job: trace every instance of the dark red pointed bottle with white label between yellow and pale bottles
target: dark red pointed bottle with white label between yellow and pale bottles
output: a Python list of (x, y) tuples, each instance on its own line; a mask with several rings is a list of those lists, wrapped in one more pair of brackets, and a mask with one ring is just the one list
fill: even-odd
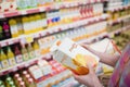
[(23, 57), (22, 57), (22, 52), (20, 51), (17, 46), (15, 46), (15, 48), (14, 48), (14, 54), (15, 54), (16, 62), (22, 63)]

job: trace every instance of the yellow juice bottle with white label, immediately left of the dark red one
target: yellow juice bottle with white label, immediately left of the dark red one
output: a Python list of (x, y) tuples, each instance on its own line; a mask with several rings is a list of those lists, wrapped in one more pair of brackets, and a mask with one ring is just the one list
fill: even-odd
[(8, 55), (10, 65), (16, 64), (15, 58), (14, 58), (14, 53), (12, 52), (12, 50), (11, 50), (10, 47), (8, 47), (8, 53), (6, 53), (6, 55)]

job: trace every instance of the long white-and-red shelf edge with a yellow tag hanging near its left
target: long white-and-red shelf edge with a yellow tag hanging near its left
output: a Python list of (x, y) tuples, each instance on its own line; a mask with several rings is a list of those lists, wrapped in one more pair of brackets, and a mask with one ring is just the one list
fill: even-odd
[(35, 34), (30, 34), (30, 35), (22, 35), (22, 36), (16, 37), (16, 38), (5, 39), (5, 40), (0, 41), (0, 46), (4, 47), (8, 44), (10, 44), (10, 45), (11, 44), (15, 44), (15, 42), (20, 41), (23, 38), (26, 39), (27, 37), (30, 37), (31, 39), (34, 39), (34, 37), (42, 37), (42, 36), (47, 36), (47, 35), (50, 35), (50, 34), (58, 33), (61, 30), (66, 30), (66, 29), (69, 29), (69, 28), (75, 28), (75, 27), (79, 27), (79, 26), (82, 26), (82, 25), (96, 23), (96, 22), (100, 22), (102, 20), (106, 20), (107, 16), (108, 16), (107, 14), (102, 14), (100, 16), (84, 18), (84, 20), (81, 20), (81, 21), (78, 21), (78, 22), (74, 22), (74, 23), (70, 23), (70, 24), (65, 24), (65, 25), (58, 25), (58, 26), (55, 26), (55, 27), (50, 27), (50, 28), (44, 29), (44, 30), (39, 32), (39, 33), (35, 33)]

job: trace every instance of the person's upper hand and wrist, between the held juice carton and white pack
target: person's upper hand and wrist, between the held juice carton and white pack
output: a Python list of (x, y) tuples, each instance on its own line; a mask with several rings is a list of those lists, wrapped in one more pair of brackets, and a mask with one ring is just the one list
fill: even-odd
[(100, 58), (101, 62), (108, 64), (110, 66), (115, 66), (120, 57), (120, 55), (109, 55), (107, 53), (98, 52), (98, 51), (91, 49), (90, 47), (88, 47), (87, 45), (82, 45), (82, 47), (84, 47), (86, 49), (88, 49), (89, 51), (91, 51), (92, 53), (98, 55)]

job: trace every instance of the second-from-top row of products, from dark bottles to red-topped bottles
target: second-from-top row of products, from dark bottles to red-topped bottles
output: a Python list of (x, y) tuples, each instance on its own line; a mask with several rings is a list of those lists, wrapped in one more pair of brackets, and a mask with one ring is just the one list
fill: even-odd
[[(99, 7), (96, 9), (96, 7)], [(90, 4), (70, 9), (61, 9), (47, 13), (24, 15), (0, 20), (0, 40), (29, 35), (54, 26), (62, 26), (82, 18), (101, 15), (103, 4)], [(60, 28), (60, 27), (58, 27)]]

